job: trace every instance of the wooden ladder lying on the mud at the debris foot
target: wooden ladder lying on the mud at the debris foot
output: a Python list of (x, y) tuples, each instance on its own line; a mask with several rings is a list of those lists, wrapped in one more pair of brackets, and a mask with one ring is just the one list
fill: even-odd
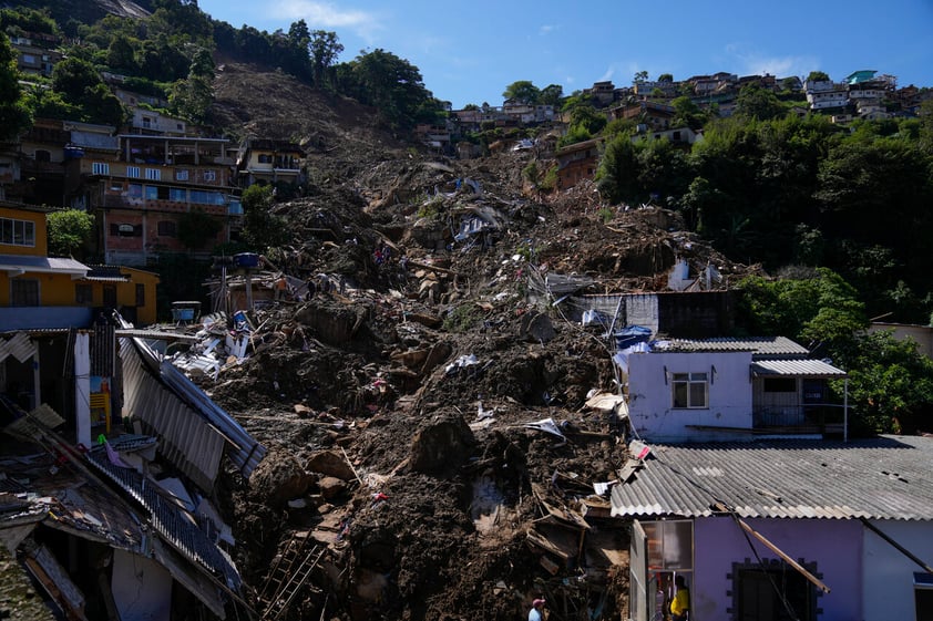
[(309, 546), (309, 541), (312, 541), (310, 534), (294, 536), (273, 565), (259, 593), (259, 602), (265, 608), (263, 621), (275, 621), (288, 610), (327, 551), (317, 544)]

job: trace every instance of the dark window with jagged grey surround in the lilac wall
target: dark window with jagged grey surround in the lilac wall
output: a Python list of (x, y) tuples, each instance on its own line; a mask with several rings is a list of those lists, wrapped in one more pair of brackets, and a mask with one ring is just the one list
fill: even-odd
[[(765, 562), (763, 566), (734, 563), (732, 599), (738, 613), (735, 618), (816, 621), (817, 588), (783, 561)], [(803, 563), (803, 567), (817, 573), (816, 563)]]

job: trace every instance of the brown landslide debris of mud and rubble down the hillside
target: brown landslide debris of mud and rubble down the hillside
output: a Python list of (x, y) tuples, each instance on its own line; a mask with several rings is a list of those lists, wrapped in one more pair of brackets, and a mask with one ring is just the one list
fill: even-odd
[[(536, 196), (522, 169), (547, 154), (424, 153), (243, 65), (215, 87), (218, 122), (308, 152), (303, 196), (275, 207), (291, 244), (259, 277), (291, 291), (257, 294), (245, 355), (193, 373), (269, 448), (219, 499), (246, 600), (267, 619), (514, 620), (537, 597), (551, 619), (624, 617), (627, 525), (594, 484), (618, 477), (627, 438), (612, 403), (587, 405), (617, 392), (606, 327), (554, 303), (558, 284), (662, 291), (681, 259), (726, 281), (751, 269), (592, 185)], [(308, 299), (316, 275), (334, 290)]]

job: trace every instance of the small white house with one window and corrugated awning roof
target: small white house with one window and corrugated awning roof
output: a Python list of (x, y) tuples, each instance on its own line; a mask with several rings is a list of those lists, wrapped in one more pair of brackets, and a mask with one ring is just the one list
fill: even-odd
[[(623, 352), (629, 423), (648, 442), (843, 434), (827, 380), (845, 372), (783, 337), (655, 341)], [(617, 356), (617, 360), (619, 356)]]

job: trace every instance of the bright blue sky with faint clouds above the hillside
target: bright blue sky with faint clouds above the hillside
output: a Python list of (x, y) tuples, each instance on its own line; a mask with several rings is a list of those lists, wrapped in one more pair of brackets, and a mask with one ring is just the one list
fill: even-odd
[(727, 71), (779, 77), (861, 69), (933, 86), (933, 0), (198, 0), (234, 28), (288, 31), (304, 19), (337, 33), (339, 62), (381, 48), (421, 71), (454, 108), (502, 104), (517, 80), (564, 94), (639, 71), (675, 80)]

